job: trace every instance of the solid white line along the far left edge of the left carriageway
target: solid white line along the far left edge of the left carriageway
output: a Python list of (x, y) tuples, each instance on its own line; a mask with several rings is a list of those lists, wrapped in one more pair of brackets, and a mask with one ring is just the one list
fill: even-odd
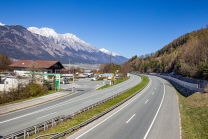
[[(132, 80), (134, 79), (135, 77), (133, 76)], [(125, 84), (128, 84), (131, 80), (127, 80), (127, 82), (124, 82), (122, 85), (119, 84), (120, 86), (125, 86)], [(46, 108), (43, 108), (43, 109), (40, 109), (40, 110), (37, 110), (37, 111), (34, 111), (34, 112), (31, 112), (31, 113), (27, 113), (27, 114), (24, 114), (24, 115), (21, 115), (21, 116), (18, 116), (18, 117), (14, 117), (14, 118), (11, 118), (11, 119), (8, 119), (8, 120), (5, 120), (5, 121), (1, 121), (0, 124), (2, 123), (6, 123), (6, 122), (9, 122), (9, 121), (13, 121), (13, 120), (16, 120), (16, 119), (19, 119), (19, 118), (23, 118), (23, 117), (26, 117), (26, 116), (29, 116), (29, 115), (32, 115), (32, 114), (36, 114), (36, 113), (40, 113), (40, 112), (43, 112), (43, 111), (46, 111), (46, 110), (50, 110), (50, 109), (53, 109), (53, 108), (56, 108), (56, 107), (60, 107), (60, 106), (63, 106), (63, 105), (67, 105), (67, 104), (70, 104), (70, 103), (73, 103), (73, 102), (77, 102), (77, 101), (80, 101), (80, 100), (83, 100), (83, 99), (86, 99), (86, 98), (90, 98), (90, 97), (93, 97), (93, 96), (97, 96), (99, 94), (102, 94), (102, 93), (105, 93), (107, 91), (110, 91), (110, 90), (113, 90), (114, 88), (107, 88), (106, 90), (104, 91), (100, 91), (100, 93), (97, 93), (97, 94), (93, 94), (91, 96), (87, 96), (87, 97), (83, 97), (82, 95), (81, 96), (78, 96), (76, 98), (73, 98), (71, 100), (67, 100), (67, 101), (64, 101), (62, 103), (59, 103), (59, 104), (56, 104), (56, 105), (53, 105), (53, 106), (50, 106), (50, 107), (46, 107)], [(85, 94), (84, 94), (85, 95)], [(80, 97), (83, 97), (83, 98), (80, 98)], [(76, 100), (77, 99), (77, 100)]]

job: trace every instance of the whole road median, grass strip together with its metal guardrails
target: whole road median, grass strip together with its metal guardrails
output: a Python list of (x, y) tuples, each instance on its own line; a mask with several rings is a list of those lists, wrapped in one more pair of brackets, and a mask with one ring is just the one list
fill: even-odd
[[(106, 113), (110, 112), (111, 110), (115, 109), (119, 105), (125, 103), (127, 100), (138, 94), (149, 82), (148, 77), (141, 77), (141, 83), (136, 85), (132, 89), (111, 96), (108, 99), (97, 102), (96, 104), (90, 105), (74, 113), (73, 115), (68, 115), (63, 118), (62, 122), (57, 121), (56, 123), (59, 123), (59, 125), (57, 125), (56, 127), (43, 131), (40, 134), (33, 136), (33, 138), (61, 138), (66, 134), (73, 133), (77, 129), (98, 119), (99, 117), (105, 115)], [(50, 134), (53, 135), (50, 136)]]

